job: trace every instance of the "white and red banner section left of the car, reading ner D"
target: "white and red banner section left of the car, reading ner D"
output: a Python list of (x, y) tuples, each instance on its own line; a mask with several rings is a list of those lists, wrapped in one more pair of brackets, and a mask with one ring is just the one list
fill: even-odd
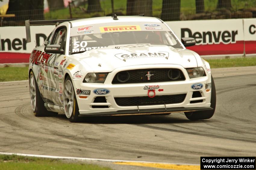
[(31, 26), (31, 43), (27, 43), (25, 26), (0, 27), (0, 63), (28, 63), (33, 48), (42, 45), (54, 28)]

